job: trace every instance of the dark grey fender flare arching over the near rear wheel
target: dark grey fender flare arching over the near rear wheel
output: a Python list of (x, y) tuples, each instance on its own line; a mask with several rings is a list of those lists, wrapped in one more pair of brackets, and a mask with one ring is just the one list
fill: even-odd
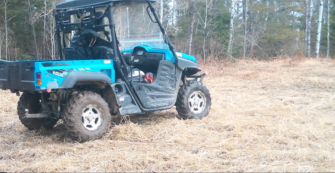
[(73, 88), (77, 81), (94, 80), (113, 83), (112, 79), (103, 72), (98, 71), (73, 71), (63, 80), (60, 88)]

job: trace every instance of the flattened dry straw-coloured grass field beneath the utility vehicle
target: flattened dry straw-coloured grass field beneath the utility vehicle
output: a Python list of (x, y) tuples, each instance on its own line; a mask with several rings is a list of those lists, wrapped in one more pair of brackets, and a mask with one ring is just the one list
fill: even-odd
[(59, 124), (28, 131), (0, 91), (0, 170), (8, 172), (335, 172), (335, 61), (222, 63), (206, 69), (212, 109), (125, 117), (77, 143)]

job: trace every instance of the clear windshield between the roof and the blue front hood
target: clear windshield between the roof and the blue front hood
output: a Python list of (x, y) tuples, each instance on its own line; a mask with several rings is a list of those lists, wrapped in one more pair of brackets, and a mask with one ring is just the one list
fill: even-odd
[(146, 8), (146, 4), (140, 4), (119, 7), (116, 10), (114, 14), (115, 30), (120, 41), (121, 51), (133, 49), (138, 45), (169, 50), (169, 46), (164, 43), (158, 24), (150, 20)]

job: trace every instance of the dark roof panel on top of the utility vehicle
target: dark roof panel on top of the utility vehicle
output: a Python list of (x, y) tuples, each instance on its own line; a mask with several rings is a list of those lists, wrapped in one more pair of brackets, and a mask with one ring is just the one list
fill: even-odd
[(114, 4), (121, 2), (120, 5), (126, 6), (132, 4), (141, 4), (147, 1), (151, 3), (156, 2), (155, 0), (65, 0), (62, 3), (56, 5), (56, 10), (108, 5), (111, 2), (114, 2)]

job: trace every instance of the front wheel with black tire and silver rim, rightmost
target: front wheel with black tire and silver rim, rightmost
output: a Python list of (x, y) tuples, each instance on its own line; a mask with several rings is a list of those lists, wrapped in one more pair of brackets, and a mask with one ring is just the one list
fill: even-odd
[(207, 116), (210, 106), (210, 93), (201, 82), (188, 81), (179, 89), (176, 109), (184, 120), (201, 119)]

